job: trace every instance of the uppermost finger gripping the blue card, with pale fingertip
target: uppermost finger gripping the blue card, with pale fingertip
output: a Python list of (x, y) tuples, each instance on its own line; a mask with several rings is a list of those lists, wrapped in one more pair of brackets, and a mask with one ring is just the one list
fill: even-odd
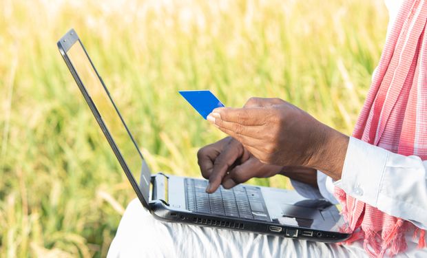
[(244, 107), (234, 109), (231, 107), (220, 107), (213, 109), (209, 114), (210, 122), (223, 120), (228, 122), (237, 122), (241, 125), (264, 125), (266, 118), (271, 114), (271, 109), (265, 107)]

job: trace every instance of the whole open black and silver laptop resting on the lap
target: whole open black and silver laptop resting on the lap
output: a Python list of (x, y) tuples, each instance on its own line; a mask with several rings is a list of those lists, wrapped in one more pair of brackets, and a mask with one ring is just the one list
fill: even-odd
[(310, 241), (338, 242), (351, 236), (337, 208), (326, 200), (249, 184), (220, 186), (208, 194), (207, 180), (152, 174), (79, 36), (70, 30), (57, 45), (138, 199), (156, 219)]

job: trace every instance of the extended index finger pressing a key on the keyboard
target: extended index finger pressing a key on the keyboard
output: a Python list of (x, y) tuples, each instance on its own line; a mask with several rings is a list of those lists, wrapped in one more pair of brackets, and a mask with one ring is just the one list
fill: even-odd
[(207, 193), (213, 193), (218, 189), (222, 182), (222, 178), (229, 169), (233, 167), (236, 160), (243, 155), (242, 144), (238, 141), (231, 141), (227, 147), (218, 155), (213, 162), (213, 169), (209, 175), (209, 184), (206, 188)]

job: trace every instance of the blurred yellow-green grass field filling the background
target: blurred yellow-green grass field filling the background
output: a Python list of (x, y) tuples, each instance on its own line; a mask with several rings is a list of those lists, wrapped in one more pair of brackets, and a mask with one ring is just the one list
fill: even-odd
[(0, 14), (0, 257), (104, 257), (135, 197), (56, 49), (69, 28), (154, 171), (199, 176), (196, 151), (222, 134), (178, 89), (277, 96), (351, 133), (388, 19), (369, 0), (3, 0)]

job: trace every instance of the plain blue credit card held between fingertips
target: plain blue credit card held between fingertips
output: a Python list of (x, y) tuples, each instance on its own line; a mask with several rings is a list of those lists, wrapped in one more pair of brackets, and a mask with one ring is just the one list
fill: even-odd
[(211, 114), (213, 109), (225, 107), (208, 89), (179, 91), (179, 93), (192, 107), (194, 107), (194, 109), (196, 109), (196, 111), (198, 111), (198, 114), (205, 119), (207, 115)]

